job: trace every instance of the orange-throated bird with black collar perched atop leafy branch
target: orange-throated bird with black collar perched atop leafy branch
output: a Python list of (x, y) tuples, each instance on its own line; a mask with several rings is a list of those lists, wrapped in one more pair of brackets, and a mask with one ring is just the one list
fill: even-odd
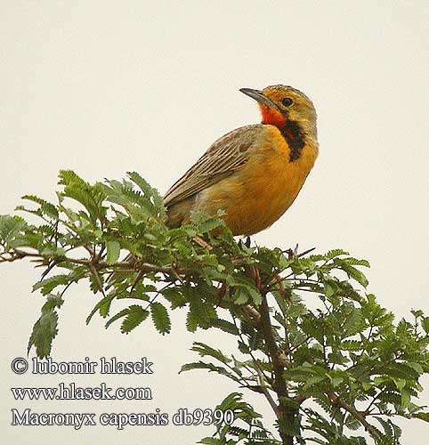
[(252, 235), (276, 222), (303, 187), (319, 151), (312, 101), (285, 85), (240, 91), (258, 102), (262, 123), (225, 134), (174, 183), (164, 198), (167, 225), (222, 209), (234, 235)]

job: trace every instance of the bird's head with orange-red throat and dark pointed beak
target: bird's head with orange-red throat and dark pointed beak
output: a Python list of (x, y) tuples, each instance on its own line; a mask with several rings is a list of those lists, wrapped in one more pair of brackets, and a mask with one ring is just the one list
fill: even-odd
[(300, 126), (304, 134), (317, 137), (316, 110), (312, 101), (299, 90), (292, 86), (270, 85), (262, 91), (251, 88), (241, 88), (239, 91), (258, 102), (263, 124), (282, 129), (288, 122), (293, 122)]

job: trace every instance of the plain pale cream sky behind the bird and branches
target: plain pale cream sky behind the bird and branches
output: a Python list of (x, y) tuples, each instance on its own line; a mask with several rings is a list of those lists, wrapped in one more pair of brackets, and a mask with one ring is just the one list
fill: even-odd
[[(240, 87), (294, 85), (319, 114), (320, 158), (295, 204), (255, 236), (259, 244), (321, 251), (343, 247), (366, 257), (369, 289), (404, 316), (429, 312), (427, 298), (428, 146), (425, 1), (147, 2), (0, 1), (0, 214), (31, 192), (53, 198), (57, 173), (90, 181), (137, 170), (166, 189), (214, 139), (259, 121)], [(148, 412), (206, 408), (235, 386), (204, 372), (178, 376), (193, 340), (183, 314), (171, 336), (150, 324), (131, 335), (85, 327), (95, 297), (70, 289), (61, 310), (56, 360), (147, 356), (153, 376), (112, 376), (113, 386), (150, 386), (151, 402), (16, 402), (11, 386), (61, 381), (99, 384), (101, 376), (15, 376), (42, 297), (28, 263), (0, 267), (4, 298), (0, 417), (7, 443), (189, 445), (211, 427), (12, 427), (12, 408), (38, 412)], [(429, 379), (424, 382), (429, 385)], [(429, 404), (429, 392), (422, 402)], [(248, 395), (264, 413), (259, 397)], [(270, 417), (269, 417), (270, 418)], [(270, 422), (267, 422), (268, 424)], [(427, 437), (404, 423), (404, 445)]]

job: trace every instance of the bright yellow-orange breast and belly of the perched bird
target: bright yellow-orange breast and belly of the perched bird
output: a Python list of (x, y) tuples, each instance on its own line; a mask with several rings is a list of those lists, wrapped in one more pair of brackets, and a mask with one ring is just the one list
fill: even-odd
[(317, 158), (317, 147), (305, 145), (301, 157), (289, 161), (290, 149), (277, 129), (267, 132), (246, 165), (199, 193), (197, 210), (223, 209), (234, 235), (252, 235), (275, 223), (294, 202)]

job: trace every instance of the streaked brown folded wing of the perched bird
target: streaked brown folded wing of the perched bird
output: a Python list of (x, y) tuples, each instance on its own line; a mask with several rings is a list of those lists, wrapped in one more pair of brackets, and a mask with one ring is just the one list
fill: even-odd
[(165, 205), (172, 206), (190, 198), (244, 166), (263, 126), (242, 126), (214, 142), (197, 163), (166, 192)]

